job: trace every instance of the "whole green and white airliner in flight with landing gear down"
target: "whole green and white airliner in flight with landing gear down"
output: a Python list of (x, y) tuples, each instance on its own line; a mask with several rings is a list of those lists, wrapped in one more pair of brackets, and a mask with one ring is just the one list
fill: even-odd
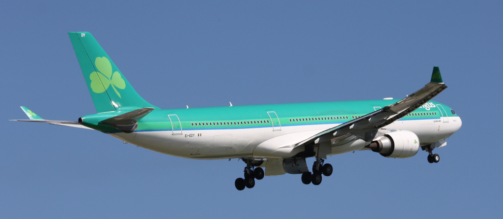
[[(319, 185), (333, 171), (327, 157), (354, 151), (410, 158), (421, 149), (429, 163), (438, 163), (433, 150), (447, 145), (462, 124), (452, 108), (431, 101), (447, 88), (438, 66), (430, 83), (401, 100), (160, 109), (136, 93), (91, 33), (68, 35), (97, 113), (45, 120), (21, 107), (29, 119), (16, 121), (93, 129), (181, 158), (239, 159), (245, 167), (234, 181), (237, 190), (286, 173)], [(309, 170), (306, 158), (313, 157)]]

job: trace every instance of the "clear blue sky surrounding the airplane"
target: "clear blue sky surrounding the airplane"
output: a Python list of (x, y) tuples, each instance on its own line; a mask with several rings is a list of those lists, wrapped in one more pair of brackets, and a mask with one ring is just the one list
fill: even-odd
[[(73, 1), (72, 1), (73, 2)], [(0, 6), (0, 217), (502, 217), (498, 1), (22, 2)], [(440, 66), (434, 100), (463, 127), (409, 159), (330, 157), (319, 186), (244, 163), (171, 157), (106, 134), (26, 119), (95, 113), (67, 32), (89, 31), (161, 108), (403, 98)], [(309, 160), (312, 162), (312, 160)]]

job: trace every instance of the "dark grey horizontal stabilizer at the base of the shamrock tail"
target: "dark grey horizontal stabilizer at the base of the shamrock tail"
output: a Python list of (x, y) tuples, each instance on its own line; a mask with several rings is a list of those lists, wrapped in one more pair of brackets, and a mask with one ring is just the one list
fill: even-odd
[(145, 107), (109, 119), (105, 119), (101, 122), (110, 124), (114, 128), (121, 130), (122, 132), (131, 133), (135, 131), (136, 128), (138, 128), (138, 122), (136, 121), (136, 119), (148, 114), (152, 110), (154, 110), (154, 108)]

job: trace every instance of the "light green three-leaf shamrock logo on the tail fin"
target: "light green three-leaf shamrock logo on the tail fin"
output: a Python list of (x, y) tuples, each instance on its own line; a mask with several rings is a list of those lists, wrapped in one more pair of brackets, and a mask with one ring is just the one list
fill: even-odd
[(119, 71), (115, 71), (112, 74), (112, 64), (110, 64), (107, 57), (97, 57), (95, 66), (99, 71), (93, 71), (93, 73), (89, 76), (93, 92), (98, 94), (103, 93), (108, 89), (108, 87), (112, 86), (112, 89), (114, 89), (117, 96), (122, 98), (116, 88), (124, 89), (126, 88), (126, 83), (124, 82), (124, 79), (122, 79)]

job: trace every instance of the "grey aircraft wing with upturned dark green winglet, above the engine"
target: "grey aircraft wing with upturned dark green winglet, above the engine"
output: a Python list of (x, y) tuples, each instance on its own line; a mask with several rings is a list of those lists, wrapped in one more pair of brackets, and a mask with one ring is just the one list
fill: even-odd
[(435, 66), (433, 68), (432, 79), (424, 88), (380, 110), (319, 132), (297, 143), (295, 147), (323, 143), (328, 140), (337, 142), (338, 139), (347, 138), (352, 135), (365, 141), (372, 141), (379, 128), (391, 124), (416, 110), (446, 88), (447, 86), (442, 81), (439, 67)]

